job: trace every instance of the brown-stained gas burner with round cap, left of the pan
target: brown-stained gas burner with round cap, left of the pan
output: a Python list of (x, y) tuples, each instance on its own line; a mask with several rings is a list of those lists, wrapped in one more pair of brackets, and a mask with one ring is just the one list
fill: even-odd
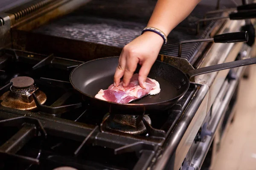
[(15, 77), (10, 82), (12, 82), (10, 91), (0, 97), (2, 106), (28, 111), (36, 108), (32, 94), (37, 96), (41, 104), (47, 99), (44, 92), (34, 85), (34, 79), (30, 77)]

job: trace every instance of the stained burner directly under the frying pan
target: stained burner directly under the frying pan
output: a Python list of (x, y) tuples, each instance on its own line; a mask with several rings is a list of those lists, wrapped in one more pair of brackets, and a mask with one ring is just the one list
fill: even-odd
[[(108, 114), (106, 114), (103, 119), (105, 119), (107, 116)], [(147, 122), (151, 124), (151, 119), (149, 116), (145, 115), (144, 117)], [(106, 120), (106, 129), (134, 135), (143, 134), (147, 131), (141, 116), (130, 115), (110, 115)]]

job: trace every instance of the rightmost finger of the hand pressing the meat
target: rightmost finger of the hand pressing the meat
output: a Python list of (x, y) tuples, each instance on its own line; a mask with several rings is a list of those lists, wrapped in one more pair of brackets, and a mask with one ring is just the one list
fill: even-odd
[(154, 63), (151, 63), (151, 61), (149, 60), (145, 60), (145, 62), (143, 62), (140, 71), (139, 71), (139, 84), (141, 88), (146, 88), (145, 87), (145, 81), (148, 77), (149, 71), (152, 67)]

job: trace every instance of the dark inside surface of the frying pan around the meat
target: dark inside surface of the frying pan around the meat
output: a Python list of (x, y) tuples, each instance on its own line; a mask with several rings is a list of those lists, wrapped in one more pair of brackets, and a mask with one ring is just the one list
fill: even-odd
[[(71, 74), (70, 81), (74, 87), (83, 94), (94, 97), (100, 89), (108, 89), (113, 83), (113, 76), (118, 65), (118, 57), (108, 57), (86, 62), (77, 67)], [(138, 65), (135, 73), (138, 73)], [(179, 69), (156, 61), (148, 75), (160, 84), (160, 93), (157, 95), (148, 95), (138, 99), (132, 104), (153, 104), (164, 102), (182, 95), (186, 92), (189, 80)], [(183, 81), (182, 81), (183, 80)]]

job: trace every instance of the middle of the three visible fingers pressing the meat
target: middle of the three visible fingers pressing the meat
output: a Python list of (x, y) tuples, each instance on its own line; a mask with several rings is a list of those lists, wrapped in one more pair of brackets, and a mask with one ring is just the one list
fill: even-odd
[(137, 68), (137, 63), (139, 62), (139, 59), (137, 57), (126, 57), (126, 65), (125, 65), (125, 73), (123, 78), (123, 86), (128, 86), (131, 77), (134, 74), (134, 71)]

